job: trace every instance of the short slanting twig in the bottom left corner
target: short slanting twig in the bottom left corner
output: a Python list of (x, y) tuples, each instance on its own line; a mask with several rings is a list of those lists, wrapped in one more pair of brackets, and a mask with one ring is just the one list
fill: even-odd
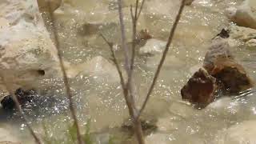
[(6, 78), (2, 78), (2, 79), (5, 83), (6, 90), (9, 92), (9, 94), (12, 96), (12, 98), (14, 98), (15, 106), (18, 109), (19, 114), (21, 114), (21, 117), (23, 118), (24, 122), (26, 123), (26, 126), (27, 126), (28, 130), (30, 130), (30, 134), (33, 136), (36, 143), (42, 144), (40, 138), (38, 138), (38, 136), (37, 136), (37, 134), (35, 134), (32, 126), (30, 126), (30, 122), (29, 122), (28, 118), (26, 118), (26, 115), (23, 113), (22, 106), (18, 102), (17, 96), (14, 94), (13, 90), (10, 89), (10, 84), (8, 83), (10, 81), (7, 80)]

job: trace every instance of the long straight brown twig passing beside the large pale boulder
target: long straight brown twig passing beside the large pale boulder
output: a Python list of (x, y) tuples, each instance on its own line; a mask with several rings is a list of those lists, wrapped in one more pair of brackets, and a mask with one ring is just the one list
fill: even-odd
[(51, 21), (51, 25), (52, 25), (52, 29), (53, 29), (53, 36), (54, 36), (54, 44), (55, 44), (55, 47), (58, 51), (58, 60), (59, 60), (59, 64), (60, 64), (60, 67), (61, 67), (61, 70), (62, 70), (63, 82), (64, 82), (64, 85), (65, 85), (67, 97), (69, 99), (70, 112), (71, 112), (72, 118), (74, 119), (74, 126), (76, 127), (76, 130), (77, 130), (78, 143), (83, 144), (84, 142), (82, 141), (81, 132), (80, 132), (80, 129), (79, 129), (79, 126), (78, 126), (78, 118), (77, 118), (77, 115), (76, 115), (76, 112), (75, 112), (75, 109), (74, 109), (74, 103), (73, 103), (72, 94), (71, 94), (71, 90), (70, 90), (70, 83), (69, 83), (69, 80), (68, 80), (67, 75), (66, 75), (66, 70), (65, 70), (65, 66), (64, 66), (60, 46), (59, 46), (59, 38), (58, 38), (58, 32), (56, 30), (56, 24), (55, 24), (53, 9), (50, 6), (50, 2), (47, 2), (47, 6), (49, 7), (50, 21)]

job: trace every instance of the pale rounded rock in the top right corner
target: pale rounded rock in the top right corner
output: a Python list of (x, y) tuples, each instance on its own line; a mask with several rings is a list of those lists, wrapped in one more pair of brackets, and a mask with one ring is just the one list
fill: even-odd
[(245, 0), (242, 5), (238, 7), (232, 20), (238, 26), (246, 26), (256, 29), (256, 1)]

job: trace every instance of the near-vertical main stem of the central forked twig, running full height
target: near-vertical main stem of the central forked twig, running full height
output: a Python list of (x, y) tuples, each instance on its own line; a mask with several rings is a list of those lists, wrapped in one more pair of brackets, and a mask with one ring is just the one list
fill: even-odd
[(126, 104), (128, 106), (129, 112), (130, 112), (130, 117), (133, 120), (134, 123), (134, 133), (136, 135), (136, 138), (138, 140), (139, 144), (144, 144), (144, 136), (142, 132), (142, 125), (141, 122), (138, 118), (136, 118), (137, 110), (134, 104), (134, 81), (132, 78), (129, 78), (130, 76), (130, 54), (129, 50), (127, 49), (126, 46), (126, 36), (125, 36), (125, 26), (123, 22), (123, 15), (122, 15), (122, 0), (118, 0), (118, 15), (119, 15), (119, 21), (120, 21), (120, 27), (121, 27), (121, 38), (122, 38), (122, 48), (125, 51), (125, 62), (126, 62), (126, 73), (128, 74), (128, 81), (126, 83), (126, 86), (129, 89), (129, 94), (126, 96)]

